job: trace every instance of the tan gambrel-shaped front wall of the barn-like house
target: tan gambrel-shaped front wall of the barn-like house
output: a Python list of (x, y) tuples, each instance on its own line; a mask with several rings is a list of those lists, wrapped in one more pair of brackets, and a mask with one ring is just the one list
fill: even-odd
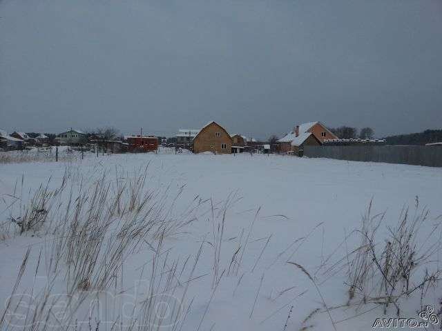
[[(217, 132), (220, 137), (217, 137)], [(226, 148), (221, 148), (225, 143)], [(221, 126), (211, 123), (201, 130), (195, 139), (193, 139), (193, 152), (215, 152), (216, 154), (231, 154), (232, 139), (230, 135)]]

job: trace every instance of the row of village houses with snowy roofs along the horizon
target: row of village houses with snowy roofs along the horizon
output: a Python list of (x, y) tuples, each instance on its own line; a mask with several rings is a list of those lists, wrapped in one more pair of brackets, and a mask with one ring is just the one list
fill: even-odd
[[(244, 151), (270, 152), (273, 151), (284, 154), (298, 154), (306, 145), (322, 145), (325, 141), (338, 139), (333, 132), (318, 121), (302, 123), (295, 126), (291, 132), (276, 141), (275, 146), (270, 143), (262, 143), (253, 138), (247, 138), (242, 134), (229, 134), (227, 130), (215, 121), (210, 121), (200, 129), (180, 129), (178, 130), (174, 146), (176, 148), (186, 148), (194, 153), (213, 152), (214, 154), (241, 153)], [(21, 148), (25, 145), (41, 146), (48, 143), (49, 139), (45, 134), (37, 137), (29, 137), (24, 132), (12, 132), (8, 134), (0, 130), (0, 148)], [(106, 143), (106, 148), (111, 148), (113, 152), (128, 151), (151, 151), (157, 150), (157, 137), (136, 134), (125, 136), (124, 139), (105, 140), (96, 134), (86, 135), (80, 130), (67, 130), (57, 134), (55, 143), (59, 145), (82, 145), (88, 143)], [(161, 143), (161, 142), (160, 142)]]

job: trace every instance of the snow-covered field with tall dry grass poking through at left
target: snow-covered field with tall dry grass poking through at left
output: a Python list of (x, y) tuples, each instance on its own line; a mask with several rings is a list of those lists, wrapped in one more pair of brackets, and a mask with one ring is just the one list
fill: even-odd
[[(44, 199), (28, 208), (38, 190)], [(412, 217), (416, 208), (418, 215), (429, 210), (417, 244), (434, 254), (412, 284), (440, 266), (440, 168), (249, 154), (88, 155), (0, 165), (0, 194), (0, 301), (4, 321), (16, 325), (44, 305), (51, 312), (37, 319), (70, 330), (369, 330), (397, 308), (384, 315), (383, 305), (362, 303), (358, 291), (349, 301), (349, 253), (361, 243), (354, 230), (370, 201), (372, 216), (386, 212), (376, 249), (404, 206)], [(26, 210), (41, 224), (19, 234), (11, 219), (24, 219)], [(86, 252), (74, 247), (90, 241), (97, 246)], [(93, 270), (77, 270), (88, 255), (95, 263), (84, 268)], [(382, 281), (375, 274), (374, 287)], [(420, 288), (398, 300), (400, 317), (419, 319), (422, 304), (439, 310), (436, 286), (422, 302)], [(376, 290), (364, 292), (376, 297)]]

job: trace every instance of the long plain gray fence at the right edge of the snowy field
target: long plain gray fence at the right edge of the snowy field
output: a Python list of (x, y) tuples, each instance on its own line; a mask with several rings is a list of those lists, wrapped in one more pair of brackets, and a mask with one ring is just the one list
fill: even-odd
[(306, 157), (442, 167), (442, 146), (304, 146)]

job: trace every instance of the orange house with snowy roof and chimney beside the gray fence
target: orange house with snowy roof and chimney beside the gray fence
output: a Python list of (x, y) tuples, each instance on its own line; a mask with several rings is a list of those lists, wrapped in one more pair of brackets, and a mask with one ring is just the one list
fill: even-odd
[(298, 152), (305, 145), (322, 145), (326, 139), (337, 139), (336, 135), (327, 129), (323, 123), (309, 122), (295, 126), (277, 141), (278, 151), (282, 153)]

